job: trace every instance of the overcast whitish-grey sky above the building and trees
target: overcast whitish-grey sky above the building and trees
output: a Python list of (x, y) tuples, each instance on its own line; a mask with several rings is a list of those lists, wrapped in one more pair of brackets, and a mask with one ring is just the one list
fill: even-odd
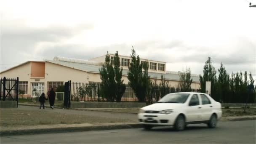
[[(248, 0), (256, 5), (256, 0)], [(28, 60), (91, 59), (119, 51), (256, 78), (256, 8), (246, 0), (1, 0), (0, 71)]]

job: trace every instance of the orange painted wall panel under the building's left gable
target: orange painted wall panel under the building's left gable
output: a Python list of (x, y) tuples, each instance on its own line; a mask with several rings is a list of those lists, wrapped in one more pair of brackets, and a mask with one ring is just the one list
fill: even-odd
[(45, 77), (45, 62), (31, 62), (31, 77)]

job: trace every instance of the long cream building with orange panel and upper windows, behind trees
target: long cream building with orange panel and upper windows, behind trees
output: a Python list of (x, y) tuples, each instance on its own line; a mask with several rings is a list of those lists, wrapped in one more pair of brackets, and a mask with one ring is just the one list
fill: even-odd
[[(113, 60), (114, 54), (110, 54)], [(37, 96), (47, 92), (51, 88), (56, 89), (59, 85), (71, 80), (79, 83), (100, 83), (99, 69), (105, 61), (105, 56), (91, 60), (71, 59), (55, 57), (53, 60), (27, 61), (11, 69), (0, 72), (0, 77), (19, 77), (19, 89), (25, 92), (24, 96)], [(146, 59), (141, 59), (141, 62)], [(179, 72), (166, 70), (166, 62), (147, 60), (149, 63), (149, 75), (152, 80), (161, 80), (161, 75), (168, 80), (169, 86), (177, 88), (179, 85)], [(131, 57), (120, 56), (121, 67), (125, 84), (128, 84), (128, 67)], [(200, 88), (199, 76), (192, 75), (192, 89)]]

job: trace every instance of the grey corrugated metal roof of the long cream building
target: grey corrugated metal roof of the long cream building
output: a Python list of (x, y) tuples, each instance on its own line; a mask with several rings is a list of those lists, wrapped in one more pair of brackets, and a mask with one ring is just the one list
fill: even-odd
[[(67, 61), (51, 61), (47, 60), (48, 62), (54, 63), (54, 64), (59, 64), (65, 67), (70, 67), (74, 69), (79, 69), (85, 72), (97, 72), (99, 73), (99, 69), (101, 66), (99, 65), (91, 65), (91, 64), (80, 64), (80, 63), (74, 63), (74, 62), (67, 62)], [(128, 70), (123, 69), (123, 74), (127, 75)], [(156, 72), (149, 72), (150, 77), (152, 78), (161, 78), (161, 75), (165, 77), (165, 79), (168, 80), (179, 80), (179, 75), (178, 74), (171, 74), (171, 73), (166, 73), (166, 74), (161, 74), (161, 73), (156, 73)], [(199, 77), (192, 76), (193, 82), (200, 82)]]

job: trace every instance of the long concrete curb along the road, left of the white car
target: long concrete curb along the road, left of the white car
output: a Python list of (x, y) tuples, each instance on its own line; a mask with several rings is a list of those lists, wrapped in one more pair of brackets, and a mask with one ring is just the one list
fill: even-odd
[(39, 128), (39, 129), (23, 129), (23, 130), (7, 130), (0, 131), (0, 136), (10, 135), (28, 135), (41, 133), (64, 133), (64, 132), (81, 132), (81, 131), (101, 131), (114, 129), (142, 128), (141, 124), (118, 124), (118, 125), (92, 125), (80, 127), (63, 127), (63, 128)]

